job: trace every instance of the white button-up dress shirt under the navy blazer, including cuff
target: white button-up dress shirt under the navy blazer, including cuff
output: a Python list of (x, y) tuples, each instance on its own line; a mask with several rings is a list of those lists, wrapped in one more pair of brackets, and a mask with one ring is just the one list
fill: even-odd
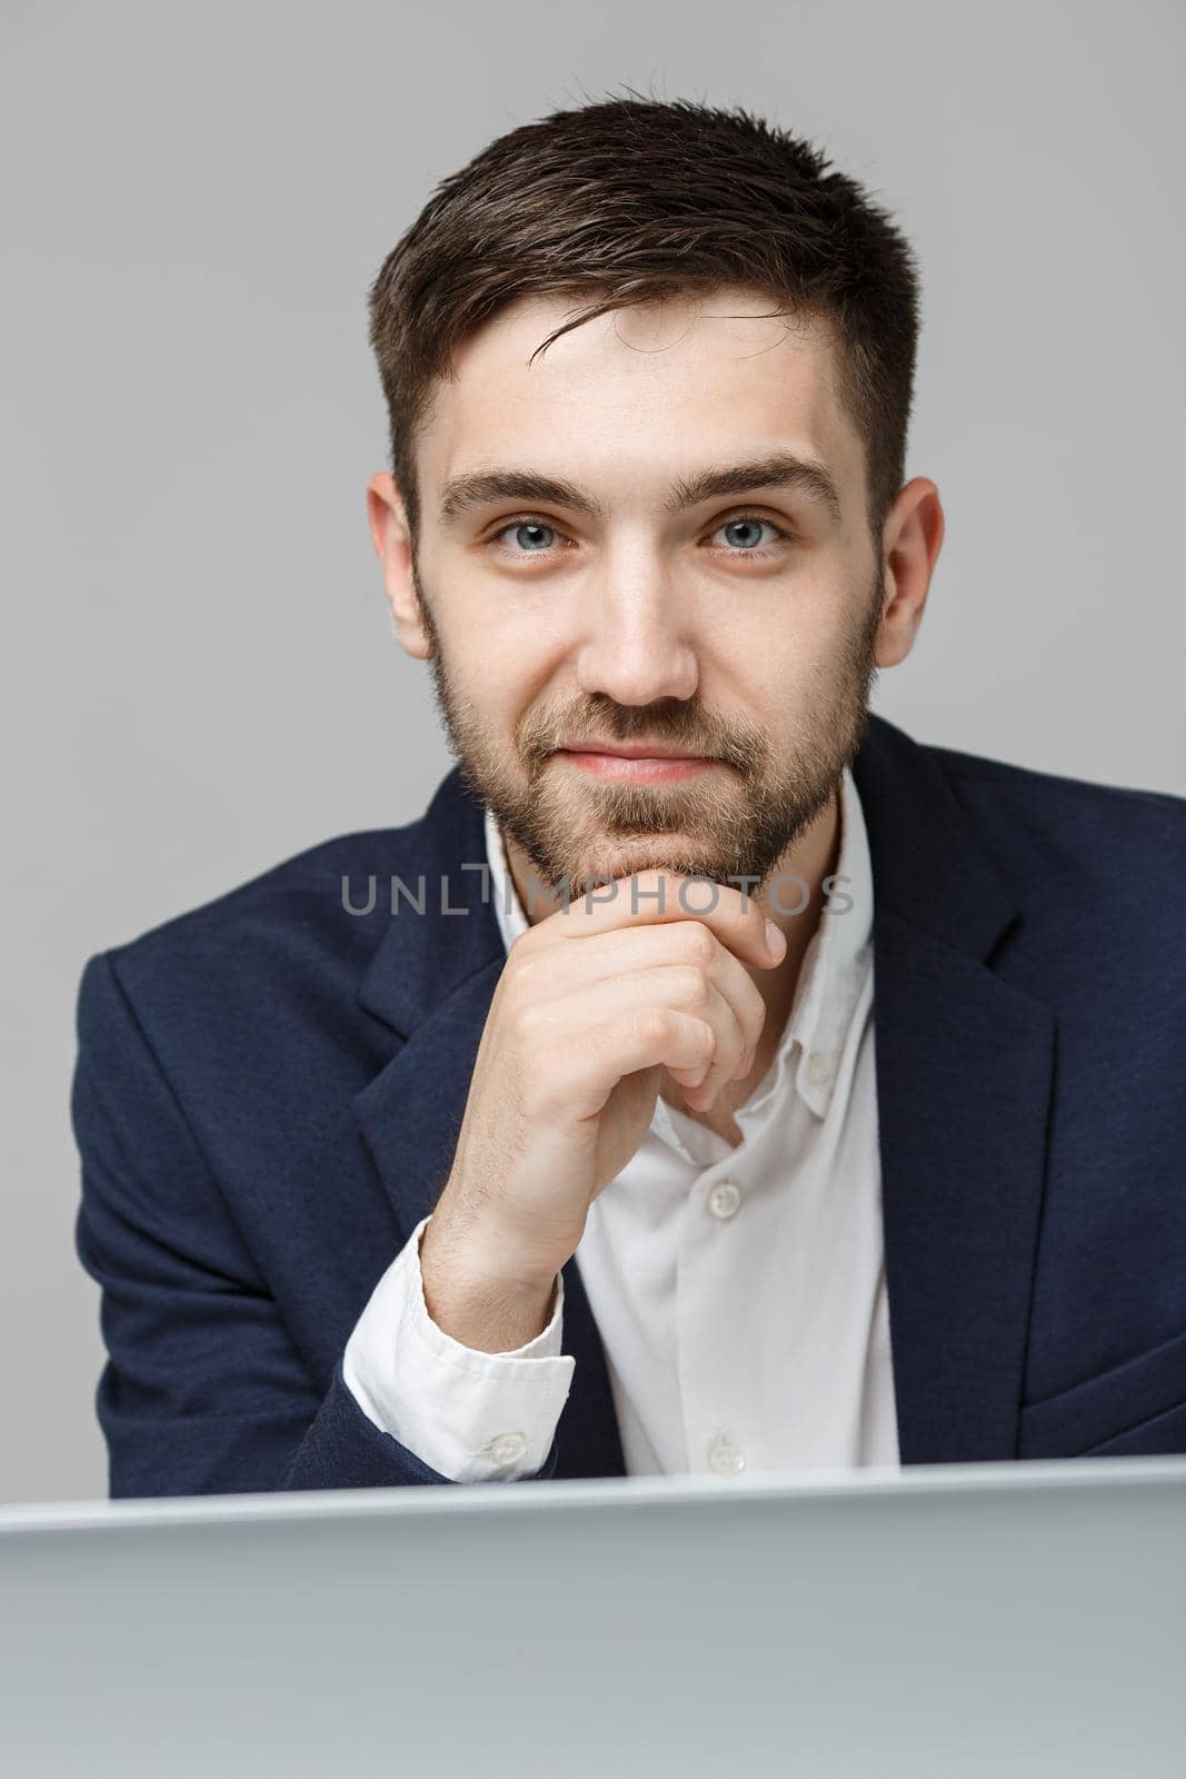
[[(526, 914), (498, 824), (485, 847), (507, 948)], [(628, 1475), (896, 1466), (873, 1066), (873, 872), (841, 777), (834, 909), (820, 914), (779, 1051), (734, 1112), (741, 1144), (656, 1101), (594, 1199), (576, 1265), (606, 1356)], [(788, 911), (795, 884), (781, 891)], [(845, 907), (845, 898), (850, 902)], [(548, 1327), (509, 1354), (427, 1313), (425, 1217), (356, 1324), (365, 1414), (455, 1482), (541, 1469), (576, 1359), (564, 1276)]]

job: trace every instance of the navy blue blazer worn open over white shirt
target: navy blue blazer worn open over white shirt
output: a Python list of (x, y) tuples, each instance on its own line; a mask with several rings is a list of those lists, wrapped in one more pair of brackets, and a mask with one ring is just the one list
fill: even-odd
[[(853, 776), (902, 1461), (1186, 1452), (1186, 799), (882, 717)], [(505, 962), (484, 859), (453, 767), (421, 820), (89, 959), (76, 1238), (114, 1496), (448, 1480), (341, 1352), (448, 1176)], [(421, 875), (425, 914), (393, 916)], [(564, 1288), (573, 1389), (528, 1480), (621, 1477), (576, 1260)]]

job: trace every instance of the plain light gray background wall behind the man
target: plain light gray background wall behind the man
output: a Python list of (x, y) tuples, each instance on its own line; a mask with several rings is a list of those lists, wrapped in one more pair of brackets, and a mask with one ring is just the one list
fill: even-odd
[(909, 475), (948, 537), (875, 708), (1186, 792), (1182, 9), (898, 0), (0, 12), (7, 930), (0, 1500), (105, 1493), (68, 1123), (85, 959), (450, 760), (365, 484), (365, 294), (493, 137), (629, 84), (743, 103), (902, 219)]

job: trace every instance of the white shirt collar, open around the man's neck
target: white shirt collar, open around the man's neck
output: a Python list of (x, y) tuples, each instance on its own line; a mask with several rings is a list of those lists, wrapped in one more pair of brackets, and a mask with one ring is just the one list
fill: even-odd
[[(784, 1075), (798, 1062), (793, 1075), (795, 1092), (811, 1110), (823, 1117), (836, 1085), (839, 1053), (845, 1034), (864, 986), (871, 962), (873, 936), (873, 863), (861, 809), (861, 795), (852, 772), (845, 767), (839, 781), (839, 854), (836, 872), (829, 879), (825, 907), (804, 955), (795, 984), (795, 1000), (786, 1021), (782, 1042), (759, 1092), (740, 1108), (738, 1117), (757, 1110), (773, 1096)], [(491, 898), (494, 916), (507, 950), (528, 920), (507, 865), (507, 849), (498, 822), (485, 811), (485, 856), (491, 872)], [(797, 900), (797, 888), (786, 882), (781, 900)]]

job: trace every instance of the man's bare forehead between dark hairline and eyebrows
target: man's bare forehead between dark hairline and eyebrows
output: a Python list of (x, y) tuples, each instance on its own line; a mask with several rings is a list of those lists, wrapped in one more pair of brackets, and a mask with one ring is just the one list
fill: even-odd
[(510, 304), (459, 349), (420, 434), (420, 480), (530, 463), (613, 500), (645, 502), (672, 473), (754, 445), (825, 463), (862, 484), (862, 447), (836, 388), (830, 329), (772, 315), (770, 297), (720, 290), (612, 310), (562, 334), (589, 299)]

